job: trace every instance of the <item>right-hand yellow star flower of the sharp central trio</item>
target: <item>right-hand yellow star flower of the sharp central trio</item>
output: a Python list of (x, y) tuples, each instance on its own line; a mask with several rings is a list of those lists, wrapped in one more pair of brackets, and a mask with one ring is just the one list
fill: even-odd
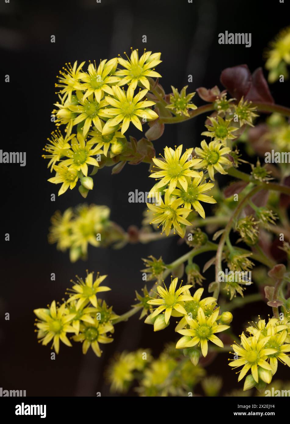
[(199, 172), (198, 177), (185, 177), (187, 181), (187, 189), (177, 183), (177, 187), (173, 190), (172, 195), (183, 201), (183, 205), (186, 209), (193, 209), (198, 212), (201, 218), (205, 218), (204, 208), (200, 202), (205, 203), (217, 203), (212, 196), (208, 196), (204, 193), (211, 190), (214, 187), (213, 183), (207, 183), (204, 179), (204, 173)]

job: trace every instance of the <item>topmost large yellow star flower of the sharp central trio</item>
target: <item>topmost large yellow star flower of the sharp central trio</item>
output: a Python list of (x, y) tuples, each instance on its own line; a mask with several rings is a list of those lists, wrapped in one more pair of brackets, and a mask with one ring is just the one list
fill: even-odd
[(187, 191), (188, 180), (186, 177), (200, 176), (197, 171), (190, 169), (201, 162), (201, 159), (192, 159), (192, 151), (193, 148), (187, 149), (181, 156), (182, 144), (175, 148), (175, 150), (166, 146), (164, 149), (164, 157), (162, 156), (164, 160), (157, 159), (156, 157), (152, 158), (155, 164), (153, 168), (157, 167), (159, 171), (152, 171), (150, 177), (160, 180), (154, 185), (154, 190), (157, 191), (168, 185), (168, 190), (165, 194), (167, 200), (177, 186), (177, 183)]

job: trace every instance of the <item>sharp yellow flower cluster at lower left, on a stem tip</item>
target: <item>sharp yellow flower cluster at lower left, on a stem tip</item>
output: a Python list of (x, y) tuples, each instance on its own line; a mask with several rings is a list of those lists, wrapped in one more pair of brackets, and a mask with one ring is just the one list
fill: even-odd
[(99, 343), (111, 343), (111, 334), (114, 332), (112, 321), (118, 318), (108, 307), (105, 301), (97, 298), (97, 293), (111, 290), (109, 287), (100, 284), (106, 275), (97, 274), (94, 280), (93, 273), (87, 273), (85, 280), (77, 277), (78, 282), (74, 283), (73, 294), (67, 301), (57, 306), (53, 301), (48, 308), (35, 309), (37, 316), (37, 338), (39, 343), (47, 345), (51, 340), (51, 349), (59, 353), (59, 341), (67, 346), (72, 346), (67, 338), (67, 333), (74, 333), (73, 340), (82, 342), (83, 353), (86, 354), (89, 347), (100, 357), (101, 350)]

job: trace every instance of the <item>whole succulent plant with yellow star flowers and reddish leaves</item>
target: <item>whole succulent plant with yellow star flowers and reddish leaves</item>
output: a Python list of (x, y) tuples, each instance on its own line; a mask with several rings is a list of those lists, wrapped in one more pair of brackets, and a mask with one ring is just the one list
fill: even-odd
[[(100, 298), (110, 290), (101, 284), (106, 276), (87, 272), (85, 279), (77, 277), (61, 304), (53, 301), (47, 309), (34, 310), (39, 341), (47, 345), (52, 340), (59, 353), (60, 341), (72, 346), (67, 337), (72, 333), (84, 354), (92, 347), (100, 357), (101, 346), (113, 341), (115, 326), (141, 312), (139, 318), (154, 332), (173, 321), (175, 332), (157, 359), (148, 349), (118, 354), (106, 371), (113, 391), (125, 392), (137, 379), (140, 396), (184, 396), (204, 377), (208, 357), (230, 350), (234, 358), (229, 365), (239, 368), (238, 381), (245, 377), (244, 390), (261, 390), (279, 363), (290, 366), (290, 168), (263, 160), (263, 146), (280, 153), (289, 147), (290, 109), (275, 104), (261, 68), (253, 74), (247, 65), (223, 70), (223, 91), (200, 87), (187, 94), (188, 86), (180, 91), (171, 86), (166, 94), (155, 70), (161, 53), (144, 50), (140, 55), (132, 48), (130, 56), (124, 54), (126, 59), (119, 55), (88, 65), (75, 61), (62, 68), (53, 110), (57, 128), (43, 157), (56, 173), (48, 181), (61, 184), (59, 195), (79, 182), (84, 198), (98, 190), (93, 176), (100, 182), (103, 167), (113, 167), (116, 174), (127, 163), (147, 164), (148, 191), (129, 193), (129, 199), (135, 196), (147, 205), (142, 227), (125, 231), (109, 219), (107, 206), (80, 205), (53, 215), (49, 242), (68, 249), (72, 262), (86, 259), (89, 245), (121, 248), (174, 236), (189, 250), (171, 263), (164, 252), (159, 259), (143, 259), (142, 280), (153, 285), (137, 287), (137, 303), (120, 315)], [(268, 80), (276, 81), (289, 63), (287, 29), (267, 52)], [(192, 103), (195, 92), (207, 104)], [(262, 123), (264, 112), (271, 116)], [(201, 133), (206, 140), (201, 137), (187, 148), (185, 142), (153, 144), (167, 124), (202, 113), (207, 114)], [(133, 128), (142, 132), (139, 140), (129, 135)], [(244, 146), (248, 154), (243, 158)], [(273, 254), (277, 243), (278, 254)], [(204, 252), (214, 252), (214, 257), (202, 267), (195, 258)], [(212, 265), (215, 277), (208, 284), (205, 273)], [(201, 286), (197, 290), (196, 284)], [(247, 294), (248, 285), (259, 290)], [(209, 296), (203, 297), (204, 291)], [(231, 312), (255, 301), (267, 303), (268, 321), (259, 317), (237, 342)], [(220, 377), (209, 377), (202, 387), (211, 396), (221, 385)]]

